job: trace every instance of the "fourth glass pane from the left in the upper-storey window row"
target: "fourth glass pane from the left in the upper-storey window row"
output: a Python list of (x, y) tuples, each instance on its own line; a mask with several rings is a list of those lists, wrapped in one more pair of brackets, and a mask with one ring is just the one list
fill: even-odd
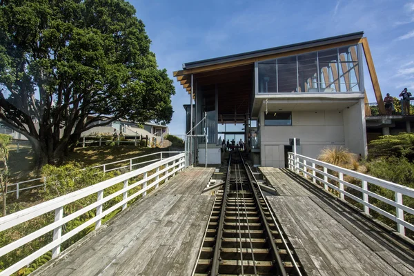
[(337, 68), (337, 48), (320, 51), (319, 55), (319, 80), (321, 92), (339, 91), (339, 79)]

